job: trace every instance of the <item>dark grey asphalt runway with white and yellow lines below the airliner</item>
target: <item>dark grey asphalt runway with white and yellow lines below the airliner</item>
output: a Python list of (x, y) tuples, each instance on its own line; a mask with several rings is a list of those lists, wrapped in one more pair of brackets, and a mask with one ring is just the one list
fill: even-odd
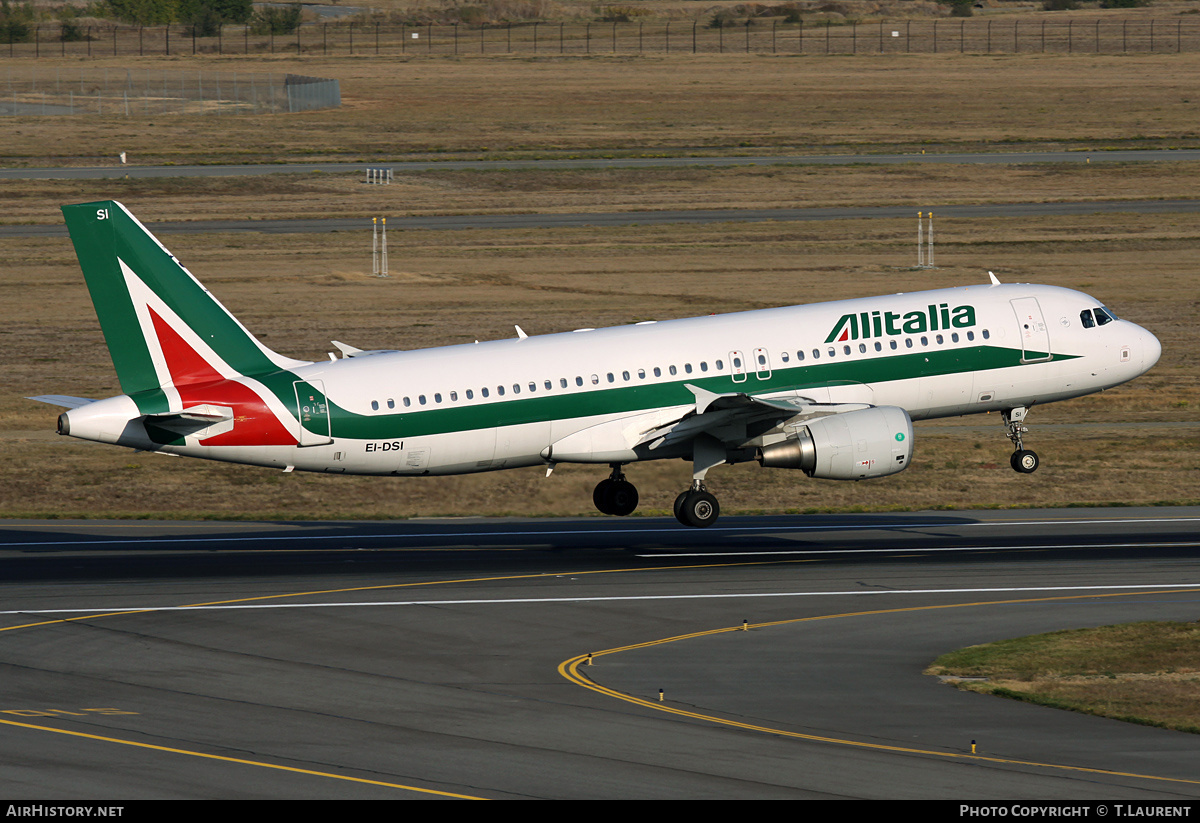
[(4, 522), (0, 792), (1195, 799), (1194, 735), (922, 669), (1194, 620), (1198, 527), (1200, 509)]

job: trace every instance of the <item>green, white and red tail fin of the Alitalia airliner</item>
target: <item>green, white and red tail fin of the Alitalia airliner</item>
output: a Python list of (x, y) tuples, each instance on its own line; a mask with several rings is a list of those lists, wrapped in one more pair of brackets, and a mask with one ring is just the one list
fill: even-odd
[(306, 365), (259, 343), (116, 200), (62, 216), (126, 395)]

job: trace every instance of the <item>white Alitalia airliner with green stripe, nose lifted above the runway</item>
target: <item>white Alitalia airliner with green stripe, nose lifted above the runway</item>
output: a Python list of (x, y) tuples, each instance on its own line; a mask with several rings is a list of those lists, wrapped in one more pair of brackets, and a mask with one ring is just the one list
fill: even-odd
[(1094, 298), (982, 286), (415, 352), (292, 360), (258, 342), (120, 203), (62, 209), (125, 392), (68, 408), (59, 433), (292, 471), (444, 475), (595, 463), (596, 509), (629, 515), (623, 469), (692, 464), (676, 500), (715, 522), (722, 463), (811, 477), (895, 474), (913, 420), (1000, 412), (1033, 471), (1027, 410), (1132, 380), (1158, 340)]

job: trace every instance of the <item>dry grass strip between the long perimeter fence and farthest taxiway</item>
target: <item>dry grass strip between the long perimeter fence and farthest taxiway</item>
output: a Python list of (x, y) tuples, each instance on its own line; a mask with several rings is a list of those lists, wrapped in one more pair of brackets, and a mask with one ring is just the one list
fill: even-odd
[[(24, 64), (22, 64), (24, 66)], [(341, 82), (304, 114), (6, 120), (4, 166), (386, 161), (546, 152), (1104, 150), (1198, 137), (1198, 54), (42, 59)]]

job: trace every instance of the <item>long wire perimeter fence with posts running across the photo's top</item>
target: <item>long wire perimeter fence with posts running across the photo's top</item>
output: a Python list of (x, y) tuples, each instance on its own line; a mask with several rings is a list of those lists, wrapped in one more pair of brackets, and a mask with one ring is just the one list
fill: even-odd
[(0, 59), (187, 54), (1012, 54), (1200, 52), (1200, 20), (936, 19), (839, 24), (754, 20), (709, 28), (691, 22), (406, 25), (305, 23), (289, 35), (224, 26), (30, 26), (0, 40)]

